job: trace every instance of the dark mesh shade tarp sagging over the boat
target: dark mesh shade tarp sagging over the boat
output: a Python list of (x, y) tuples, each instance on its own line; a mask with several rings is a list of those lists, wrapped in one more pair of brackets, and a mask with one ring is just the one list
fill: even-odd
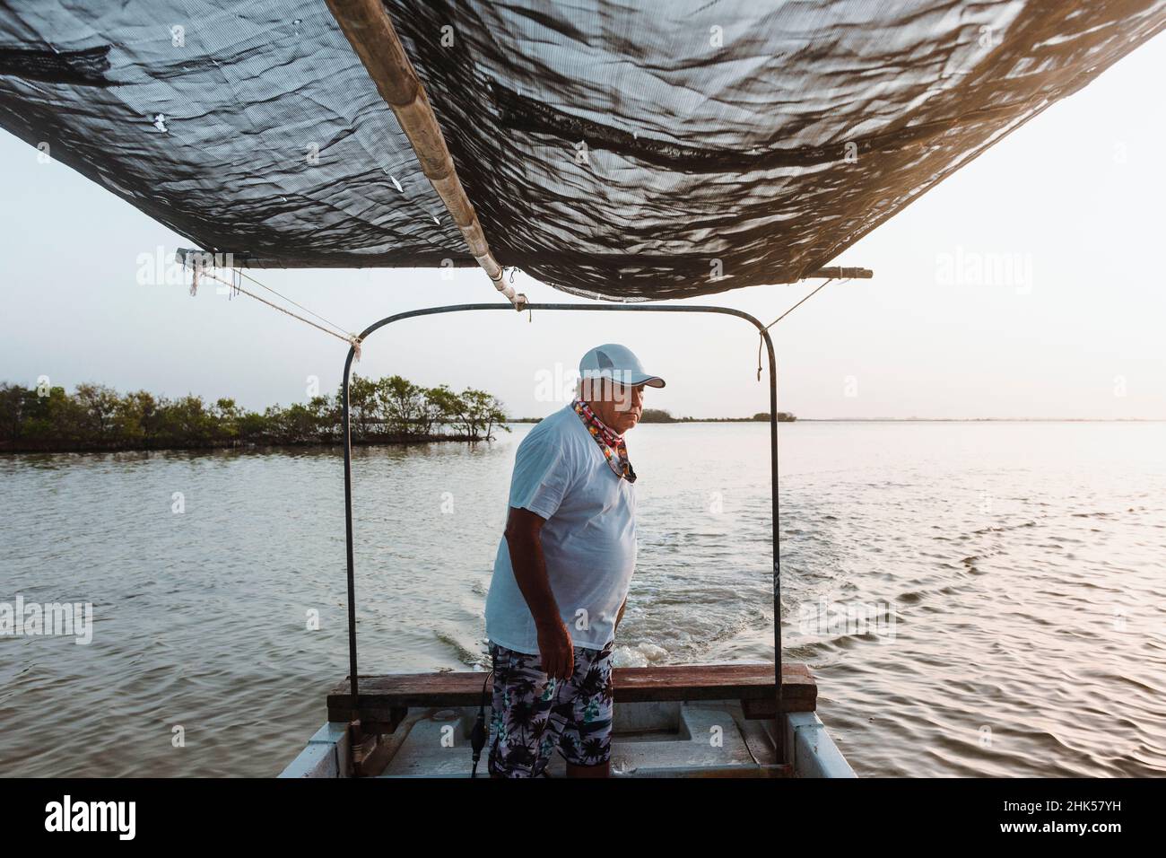
[[(1166, 0), (386, 8), (494, 257), (624, 300), (799, 279), (1166, 26)], [(240, 263), (473, 264), (322, 1), (0, 0), (0, 125)]]

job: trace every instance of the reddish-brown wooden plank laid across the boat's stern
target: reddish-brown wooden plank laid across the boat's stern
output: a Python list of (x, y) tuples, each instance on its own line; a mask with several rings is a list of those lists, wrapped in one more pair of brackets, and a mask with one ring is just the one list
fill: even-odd
[[(809, 668), (801, 663), (782, 664), (781, 676), (782, 711), (813, 712), (817, 685)], [(359, 714), (361, 720), (395, 721), (402, 709), (477, 706), (485, 679), (482, 672), (360, 676)], [(617, 703), (742, 700), (751, 718), (773, 717), (777, 711), (771, 664), (616, 668), (612, 684)], [(356, 714), (349, 690), (345, 679), (329, 693), (330, 721), (347, 721)]]

